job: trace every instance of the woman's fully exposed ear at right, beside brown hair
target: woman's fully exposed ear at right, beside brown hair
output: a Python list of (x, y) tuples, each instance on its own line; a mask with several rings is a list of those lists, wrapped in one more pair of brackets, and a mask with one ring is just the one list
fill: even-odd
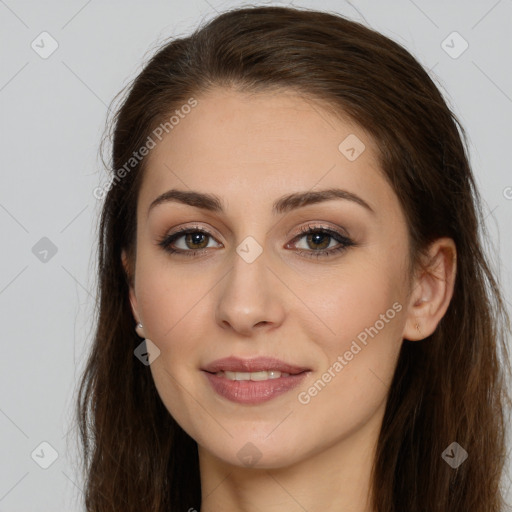
[(426, 265), (418, 270), (412, 284), (403, 338), (421, 340), (436, 330), (453, 296), (456, 262), (457, 250), (451, 238), (439, 238), (430, 245)]

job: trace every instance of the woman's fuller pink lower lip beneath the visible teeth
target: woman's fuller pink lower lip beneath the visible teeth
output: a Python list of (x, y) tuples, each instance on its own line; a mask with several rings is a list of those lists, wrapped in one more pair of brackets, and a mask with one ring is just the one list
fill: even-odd
[(309, 372), (269, 380), (230, 380), (203, 372), (212, 388), (222, 397), (239, 404), (261, 404), (297, 387)]

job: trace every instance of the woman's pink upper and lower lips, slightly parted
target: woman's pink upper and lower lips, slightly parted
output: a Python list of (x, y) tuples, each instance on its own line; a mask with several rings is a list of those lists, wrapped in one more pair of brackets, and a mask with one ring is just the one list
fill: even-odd
[[(258, 372), (278, 370), (289, 373), (288, 377), (268, 379), (263, 381), (234, 381), (224, 376), (215, 375), (220, 371), (231, 372)], [(210, 385), (220, 396), (232, 402), (254, 405), (272, 400), (298, 386), (309, 374), (308, 368), (290, 365), (279, 359), (257, 357), (254, 359), (239, 359), (227, 357), (218, 359), (203, 368)]]

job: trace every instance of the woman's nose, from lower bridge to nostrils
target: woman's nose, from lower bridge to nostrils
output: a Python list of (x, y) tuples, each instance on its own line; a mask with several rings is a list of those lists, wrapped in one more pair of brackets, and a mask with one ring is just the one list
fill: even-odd
[(265, 251), (252, 263), (234, 255), (233, 266), (221, 281), (215, 312), (223, 329), (252, 336), (281, 325), (284, 287), (268, 263)]

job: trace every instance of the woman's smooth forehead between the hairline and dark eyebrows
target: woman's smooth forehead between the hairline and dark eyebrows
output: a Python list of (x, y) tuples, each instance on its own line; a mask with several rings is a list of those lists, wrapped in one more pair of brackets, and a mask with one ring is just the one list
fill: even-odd
[(286, 90), (221, 88), (196, 100), (148, 155), (141, 207), (170, 188), (254, 206), (271, 204), (272, 196), (329, 187), (366, 190), (371, 202), (387, 186), (368, 133), (317, 101)]

